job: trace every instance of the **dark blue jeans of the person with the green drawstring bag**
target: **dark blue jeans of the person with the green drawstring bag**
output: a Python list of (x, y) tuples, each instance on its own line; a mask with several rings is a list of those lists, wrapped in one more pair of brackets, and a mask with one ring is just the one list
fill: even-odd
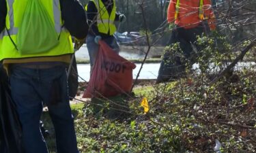
[(12, 67), (10, 84), (23, 128), (26, 153), (48, 153), (40, 131), (43, 103), (48, 107), (55, 128), (57, 152), (79, 152), (68, 97), (65, 65), (47, 69)]

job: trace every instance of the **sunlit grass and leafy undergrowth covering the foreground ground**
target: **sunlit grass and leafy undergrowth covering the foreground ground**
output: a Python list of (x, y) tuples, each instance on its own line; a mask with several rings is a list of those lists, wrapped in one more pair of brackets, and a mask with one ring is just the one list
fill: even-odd
[[(211, 87), (205, 84), (205, 75), (191, 76), (190, 82), (140, 82), (132, 95), (72, 104), (79, 150), (214, 152), (218, 139), (222, 152), (255, 152), (255, 71), (234, 76), (236, 80), (224, 78)], [(150, 107), (147, 114), (140, 106), (143, 97)], [(124, 103), (125, 108), (115, 103)], [(46, 129), (53, 131), (46, 112), (43, 119)], [(46, 141), (54, 152), (54, 136)]]

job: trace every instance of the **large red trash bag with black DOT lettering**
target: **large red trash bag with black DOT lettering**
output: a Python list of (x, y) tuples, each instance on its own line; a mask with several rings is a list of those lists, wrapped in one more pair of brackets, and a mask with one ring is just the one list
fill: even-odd
[(116, 54), (104, 41), (99, 41), (99, 52), (83, 98), (112, 97), (132, 89), (134, 63)]

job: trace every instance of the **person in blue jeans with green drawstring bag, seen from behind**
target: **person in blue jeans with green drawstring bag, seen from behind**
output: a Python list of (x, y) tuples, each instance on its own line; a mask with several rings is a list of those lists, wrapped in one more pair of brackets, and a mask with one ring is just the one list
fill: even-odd
[(66, 67), (74, 54), (71, 35), (85, 39), (86, 20), (77, 0), (0, 0), (0, 61), (10, 78), (26, 153), (48, 153), (40, 131), (43, 104), (55, 127), (57, 152), (79, 152)]

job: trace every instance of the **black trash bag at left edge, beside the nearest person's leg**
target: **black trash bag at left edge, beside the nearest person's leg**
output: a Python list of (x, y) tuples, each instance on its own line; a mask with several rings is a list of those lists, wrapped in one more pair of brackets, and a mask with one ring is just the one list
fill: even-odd
[(0, 152), (24, 153), (22, 128), (12, 101), (8, 76), (0, 64)]

